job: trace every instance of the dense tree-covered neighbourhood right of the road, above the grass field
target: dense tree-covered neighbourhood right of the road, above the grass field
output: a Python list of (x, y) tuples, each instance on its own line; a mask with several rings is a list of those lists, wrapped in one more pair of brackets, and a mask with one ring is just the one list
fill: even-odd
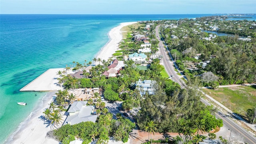
[[(177, 28), (164, 27), (171, 23), (179, 25)], [(253, 38), (256, 30), (255, 26), (252, 26), (254, 23), (247, 20), (221, 21), (218, 17), (207, 17), (196, 20), (168, 20), (160, 30), (180, 70), (189, 68), (192, 75), (187, 75), (190, 78), (205, 71), (213, 72), (218, 76), (218, 80), (204, 82), (204, 86), (218, 86), (256, 82), (256, 38)], [(204, 38), (209, 36), (208, 33), (198, 29), (208, 29), (209, 26), (215, 25), (220, 30), (224, 27), (230, 28), (228, 30), (233, 30), (234, 34), (252, 38), (250, 41), (243, 41), (238, 40), (238, 36), (217, 36), (205, 40)], [(234, 31), (237, 28), (243, 30)], [(177, 38), (172, 38), (171, 35)], [(198, 60), (195, 59), (196, 54), (201, 54)], [(206, 61), (209, 63), (203, 67), (201, 62)]]

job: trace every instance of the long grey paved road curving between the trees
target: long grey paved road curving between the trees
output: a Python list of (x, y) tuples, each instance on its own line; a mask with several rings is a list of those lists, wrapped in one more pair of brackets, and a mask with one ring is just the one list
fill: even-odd
[[(180, 79), (180, 77), (176, 74), (177, 72), (174, 71), (173, 65), (174, 62), (172, 61), (173, 58), (172, 56), (170, 56), (170, 52), (169, 50), (166, 50), (164, 48), (164, 44), (163, 41), (160, 40), (160, 35), (159, 35), (159, 25), (156, 26), (156, 37), (159, 40), (159, 51), (162, 54), (163, 58), (162, 58), (162, 62), (164, 65), (164, 68), (167, 72), (167, 74), (169, 76), (173, 75), (172, 80), (174, 80), (175, 82), (177, 82), (178, 84), (180, 84), (180, 86), (182, 88), (185, 88), (185, 84), (184, 82)], [(170, 60), (169, 56), (172, 58), (172, 60)], [(206, 104), (206, 105), (211, 105), (209, 104), (206, 100), (201, 98), (201, 101)], [(242, 136), (244, 136), (244, 140), (245, 142), (247, 142), (248, 144), (256, 144), (256, 138), (254, 136), (252, 136), (251, 134), (249, 134), (246, 130), (244, 130), (244, 128), (242, 128), (241, 126), (239, 126), (238, 124), (236, 124), (233, 120), (231, 120), (228, 116), (222, 114), (221, 112), (216, 112), (216, 118), (220, 118), (223, 121), (223, 126), (226, 128), (229, 128), (230, 130), (232, 130), (232, 134), (241, 134)], [(230, 132), (230, 131), (229, 131)], [(228, 133), (230, 134), (230, 133)], [(227, 135), (228, 135), (227, 134)]]

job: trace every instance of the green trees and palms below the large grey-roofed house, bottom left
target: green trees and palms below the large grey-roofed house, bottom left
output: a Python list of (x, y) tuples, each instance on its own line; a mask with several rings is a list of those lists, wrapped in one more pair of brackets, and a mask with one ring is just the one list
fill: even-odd
[(79, 124), (66, 124), (57, 130), (53, 130), (53, 137), (62, 142), (69, 144), (74, 137), (81, 138), (83, 144), (88, 144), (92, 140), (97, 140), (97, 144), (107, 144), (108, 136), (114, 140), (127, 142), (129, 133), (135, 128), (135, 124), (130, 120), (120, 117), (118, 120), (112, 119), (112, 114), (100, 115), (96, 123), (81, 122)]

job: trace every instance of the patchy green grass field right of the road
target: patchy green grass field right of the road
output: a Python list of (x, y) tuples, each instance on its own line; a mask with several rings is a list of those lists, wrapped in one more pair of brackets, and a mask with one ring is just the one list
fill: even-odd
[(245, 116), (247, 109), (256, 104), (256, 86), (237, 86), (217, 88), (216, 90), (202, 89), (206, 94), (232, 110)]

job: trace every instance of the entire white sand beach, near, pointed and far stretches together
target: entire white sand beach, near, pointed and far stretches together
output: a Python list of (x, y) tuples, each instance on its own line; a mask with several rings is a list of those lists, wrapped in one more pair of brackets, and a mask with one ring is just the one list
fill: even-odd
[[(110, 30), (108, 33), (110, 40), (97, 54), (97, 58), (108, 60), (118, 49), (118, 43), (122, 40), (121, 28), (134, 23), (136, 22), (124, 22)], [(46, 138), (47, 132), (50, 131), (52, 127), (42, 120), (42, 112), (45, 108), (49, 107), (48, 104), (52, 102), (55, 91), (61, 89), (60, 86), (56, 85), (56, 78), (58, 77), (56, 72), (58, 70), (64, 70), (64, 68), (49, 69), (21, 89), (21, 91), (52, 92), (46, 94), (39, 104), (40, 106), (35, 108), (34, 113), (26, 118), (24, 122), (20, 123), (17, 130), (5, 141), (6, 144), (58, 144), (56, 140)], [(66, 118), (66, 116), (64, 116), (64, 118)]]

